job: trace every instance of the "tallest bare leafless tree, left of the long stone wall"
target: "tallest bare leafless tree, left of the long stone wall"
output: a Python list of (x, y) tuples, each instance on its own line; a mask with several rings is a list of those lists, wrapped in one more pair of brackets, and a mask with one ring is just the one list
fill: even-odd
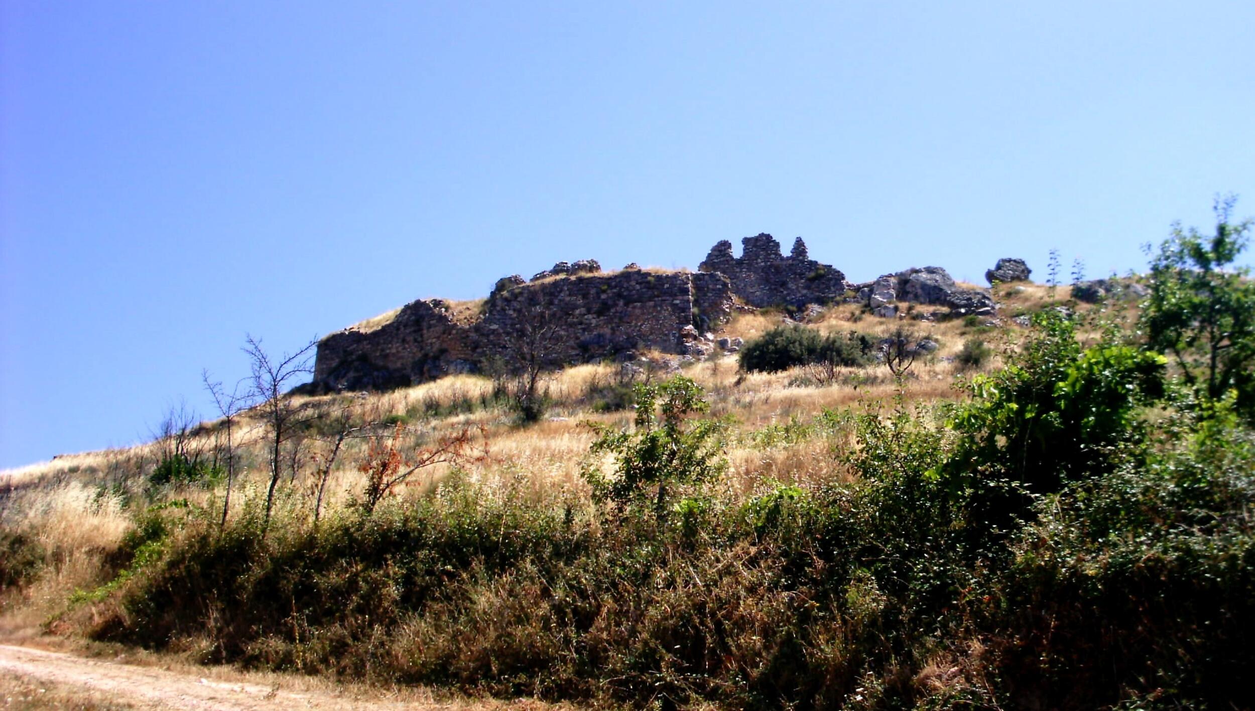
[(289, 440), (295, 426), (307, 413), (287, 394), (296, 380), (310, 372), (310, 360), (318, 347), (318, 340), (311, 340), (294, 354), (284, 352), (272, 356), (261, 347), (261, 340), (247, 336), (243, 352), (251, 365), (250, 396), (257, 403), (261, 419), (269, 429), (267, 449), (270, 450), (270, 487), (266, 489), (265, 525), (270, 525), (270, 514), (275, 503), (275, 488), (282, 470), (284, 443)]

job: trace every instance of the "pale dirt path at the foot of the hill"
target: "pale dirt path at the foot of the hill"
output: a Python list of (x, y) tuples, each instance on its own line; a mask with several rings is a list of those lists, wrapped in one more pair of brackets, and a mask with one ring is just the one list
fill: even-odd
[[(269, 686), (247, 681), (212, 680), (186, 671), (132, 666), (105, 660), (92, 660), (64, 652), (48, 652), (30, 647), (0, 645), (0, 676), (40, 680), (60, 688), (82, 690), (82, 701), (94, 703), (125, 703), (136, 708), (184, 708), (193, 711), (252, 711), (289, 708), (409, 708), (488, 710), (513, 708), (538, 711), (555, 708), (535, 701), (498, 702), (437, 702), (420, 698), (419, 690), (403, 693), (378, 691), (346, 693), (341, 688), (315, 688), (328, 685), (318, 680), (284, 680), (272, 677)], [(287, 681), (287, 683), (285, 683)], [(329, 685), (328, 685), (329, 686)], [(291, 688), (291, 691), (286, 690)], [(390, 696), (390, 698), (389, 698)], [(404, 696), (404, 698), (400, 698)], [(3, 700), (0, 700), (3, 702)]]

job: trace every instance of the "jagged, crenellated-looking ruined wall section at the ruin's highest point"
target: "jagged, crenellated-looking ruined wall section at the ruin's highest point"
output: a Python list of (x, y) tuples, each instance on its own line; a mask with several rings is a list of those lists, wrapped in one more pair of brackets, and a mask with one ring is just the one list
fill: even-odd
[(850, 286), (841, 271), (809, 258), (801, 237), (788, 257), (781, 253), (779, 242), (771, 234), (745, 237), (740, 243), (742, 255), (737, 258), (732, 242), (718, 242), (698, 268), (725, 275), (732, 291), (750, 306), (828, 303)]

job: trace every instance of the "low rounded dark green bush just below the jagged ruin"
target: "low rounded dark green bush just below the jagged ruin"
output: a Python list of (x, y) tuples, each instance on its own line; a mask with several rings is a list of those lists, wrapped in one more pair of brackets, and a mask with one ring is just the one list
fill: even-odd
[(799, 365), (866, 365), (875, 345), (867, 336), (821, 335), (817, 330), (793, 324), (777, 326), (740, 349), (740, 367), (745, 371), (778, 372)]

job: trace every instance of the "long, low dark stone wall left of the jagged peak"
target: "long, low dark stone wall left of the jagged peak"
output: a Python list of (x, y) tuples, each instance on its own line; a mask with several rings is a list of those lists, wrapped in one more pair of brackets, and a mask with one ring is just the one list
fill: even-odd
[(415, 301), (370, 332), (346, 329), (319, 344), (314, 381), (323, 390), (378, 390), (481, 369), (488, 359), (543, 352), (551, 365), (629, 350), (678, 352), (681, 329), (732, 313), (723, 275), (622, 271), (501, 280), (478, 320), (459, 324), (441, 300)]

